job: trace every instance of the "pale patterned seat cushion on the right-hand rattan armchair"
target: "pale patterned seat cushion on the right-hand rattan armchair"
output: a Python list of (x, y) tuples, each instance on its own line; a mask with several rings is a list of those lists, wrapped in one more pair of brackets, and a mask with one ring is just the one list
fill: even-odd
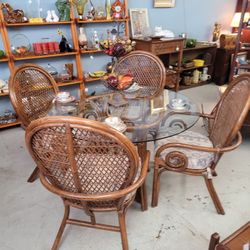
[[(183, 143), (189, 145), (203, 146), (203, 147), (213, 147), (210, 139), (197, 132), (185, 131), (181, 134), (175, 135), (170, 138), (159, 140), (156, 144), (156, 150), (167, 143)], [(191, 150), (185, 148), (168, 148), (161, 153), (161, 158), (165, 159), (166, 155), (172, 151), (179, 151), (184, 153), (188, 158), (188, 168), (190, 169), (204, 169), (211, 166), (214, 160), (214, 153)]]

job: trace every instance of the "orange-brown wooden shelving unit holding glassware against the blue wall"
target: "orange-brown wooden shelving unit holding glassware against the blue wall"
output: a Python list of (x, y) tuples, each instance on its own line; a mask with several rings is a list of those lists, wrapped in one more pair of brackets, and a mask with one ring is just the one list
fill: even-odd
[[(76, 65), (76, 76), (75, 79), (68, 81), (68, 82), (58, 82), (59, 87), (66, 87), (66, 86), (73, 86), (73, 85), (79, 85), (79, 90), (80, 90), (80, 98), (85, 97), (85, 84), (87, 83), (93, 83), (96, 81), (99, 81), (100, 78), (84, 78), (83, 71), (84, 67), (82, 65), (82, 56), (87, 55), (87, 54), (104, 54), (102, 50), (82, 50), (79, 48), (79, 43), (78, 43), (78, 26), (79, 25), (98, 25), (102, 23), (124, 23), (125, 24), (125, 35), (129, 34), (129, 18), (128, 18), (128, 9), (127, 9), (127, 0), (124, 0), (124, 18), (123, 19), (113, 19), (113, 20), (79, 20), (75, 16), (75, 10), (74, 6), (72, 4), (72, 0), (70, 0), (71, 3), (71, 8), (70, 8), (70, 21), (64, 21), (64, 22), (42, 22), (42, 23), (6, 23), (3, 17), (2, 10), (0, 10), (0, 31), (2, 34), (2, 40), (3, 40), (3, 45), (4, 45), (4, 50), (6, 52), (6, 57), (0, 59), (0, 63), (7, 63), (10, 73), (13, 72), (15, 64), (20, 63), (22, 61), (32, 61), (32, 60), (44, 60), (44, 59), (50, 59), (50, 58), (64, 58), (64, 57), (74, 57), (75, 58), (75, 65)], [(26, 55), (26, 56), (15, 56), (11, 52), (11, 46), (10, 46), (10, 39), (9, 39), (9, 29), (18, 29), (18, 28), (25, 28), (25, 27), (42, 27), (42, 26), (58, 26), (58, 25), (66, 25), (70, 27), (70, 32), (71, 32), (71, 39), (73, 41), (73, 52), (68, 52), (68, 53), (57, 53), (57, 54), (48, 54), (48, 55)], [(9, 93), (0, 93), (0, 98), (1, 97), (8, 97)], [(16, 126), (19, 125), (20, 122), (17, 121), (15, 123), (10, 123), (10, 124), (0, 124), (0, 129), (1, 128), (6, 128), (6, 127), (11, 127), (11, 126)]]

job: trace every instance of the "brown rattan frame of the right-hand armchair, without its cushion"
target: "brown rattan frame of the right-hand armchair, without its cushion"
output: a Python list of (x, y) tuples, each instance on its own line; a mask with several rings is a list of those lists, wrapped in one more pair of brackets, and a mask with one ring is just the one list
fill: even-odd
[[(221, 96), (211, 114), (198, 114), (207, 120), (209, 139), (213, 147), (183, 143), (167, 143), (158, 148), (155, 154), (152, 206), (158, 205), (160, 176), (165, 171), (179, 172), (187, 175), (203, 176), (206, 186), (219, 214), (225, 214), (219, 197), (213, 186), (212, 178), (217, 176), (216, 165), (224, 152), (236, 149), (242, 142), (239, 132), (250, 108), (250, 74), (244, 73), (231, 82)], [(172, 151), (161, 157), (164, 150)], [(214, 159), (209, 167), (190, 169), (188, 157), (182, 149), (210, 152)], [(167, 151), (168, 152), (168, 151)]]

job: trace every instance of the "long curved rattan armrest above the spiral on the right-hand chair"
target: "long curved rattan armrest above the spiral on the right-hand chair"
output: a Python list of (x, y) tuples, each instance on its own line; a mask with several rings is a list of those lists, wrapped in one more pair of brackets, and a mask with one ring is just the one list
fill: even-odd
[(211, 153), (224, 153), (228, 151), (232, 151), (235, 148), (237, 148), (242, 142), (242, 136), (240, 132), (237, 133), (236, 137), (236, 142), (234, 142), (232, 145), (228, 147), (203, 147), (203, 146), (197, 146), (197, 145), (191, 145), (191, 144), (182, 144), (182, 143), (167, 143), (163, 146), (161, 146), (155, 154), (155, 157), (159, 157), (161, 152), (164, 151), (167, 148), (172, 148), (172, 147), (178, 147), (178, 148), (186, 148), (186, 149), (192, 149), (192, 150), (197, 150), (197, 151), (204, 151), (204, 152), (211, 152)]

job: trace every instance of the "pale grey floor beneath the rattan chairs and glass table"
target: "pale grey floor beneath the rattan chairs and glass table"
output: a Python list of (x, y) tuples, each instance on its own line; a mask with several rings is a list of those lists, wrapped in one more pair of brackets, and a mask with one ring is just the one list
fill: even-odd
[[(218, 88), (207, 85), (183, 92), (210, 110), (218, 99)], [(197, 129), (197, 128), (193, 128)], [(152, 145), (149, 145), (152, 148)], [(162, 176), (156, 208), (141, 212), (138, 204), (127, 213), (127, 231), (132, 250), (206, 250), (210, 235), (222, 238), (250, 218), (250, 140), (224, 155), (218, 165), (215, 187), (226, 215), (218, 215), (202, 178), (166, 173)], [(151, 152), (153, 154), (153, 150)], [(63, 215), (60, 198), (39, 181), (26, 182), (34, 167), (24, 144), (24, 131), (0, 131), (0, 249), (50, 249)], [(147, 179), (151, 199), (152, 172)], [(85, 217), (73, 210), (75, 217)], [(117, 223), (115, 214), (100, 214), (101, 222)], [(62, 250), (121, 249), (118, 233), (67, 226)]]

